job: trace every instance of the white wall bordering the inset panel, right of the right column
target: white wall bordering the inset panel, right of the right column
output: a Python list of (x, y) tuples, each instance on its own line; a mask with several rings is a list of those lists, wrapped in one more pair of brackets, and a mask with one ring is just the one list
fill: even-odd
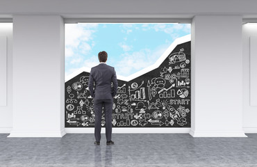
[(250, 36), (257, 37), (257, 24), (242, 25), (243, 127), (246, 133), (257, 133), (257, 106), (250, 106)]

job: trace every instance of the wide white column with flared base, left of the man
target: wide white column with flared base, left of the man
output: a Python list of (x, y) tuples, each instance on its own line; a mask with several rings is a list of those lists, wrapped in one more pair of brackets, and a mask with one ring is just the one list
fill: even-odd
[(64, 22), (13, 17), (13, 129), (9, 137), (65, 134)]

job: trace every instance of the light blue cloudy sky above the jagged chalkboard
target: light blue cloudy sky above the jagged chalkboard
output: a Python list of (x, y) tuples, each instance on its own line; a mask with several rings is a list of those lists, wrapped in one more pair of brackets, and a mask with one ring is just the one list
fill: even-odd
[(172, 42), (190, 34), (190, 24), (65, 24), (65, 76), (81, 67), (107, 64), (127, 77), (158, 60)]

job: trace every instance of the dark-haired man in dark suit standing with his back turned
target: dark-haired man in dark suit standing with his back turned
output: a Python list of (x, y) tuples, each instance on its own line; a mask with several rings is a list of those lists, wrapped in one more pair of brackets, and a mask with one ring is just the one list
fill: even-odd
[[(106, 65), (108, 54), (100, 51), (98, 54), (99, 65), (92, 67), (88, 81), (88, 88), (94, 98), (94, 144), (99, 145), (101, 139), (101, 113), (102, 107), (105, 110), (106, 120), (106, 144), (114, 144), (112, 138), (112, 113), (113, 97), (117, 93), (117, 77), (114, 67)], [(113, 83), (113, 88), (111, 87)], [(95, 86), (95, 88), (94, 88)]]

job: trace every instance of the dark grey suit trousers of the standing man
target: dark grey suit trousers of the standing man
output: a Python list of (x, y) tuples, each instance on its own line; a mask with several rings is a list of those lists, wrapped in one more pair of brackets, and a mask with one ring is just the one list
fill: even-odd
[(101, 113), (105, 116), (106, 121), (106, 141), (112, 139), (112, 113), (113, 113), (113, 99), (94, 100), (94, 137), (97, 142), (101, 140)]

